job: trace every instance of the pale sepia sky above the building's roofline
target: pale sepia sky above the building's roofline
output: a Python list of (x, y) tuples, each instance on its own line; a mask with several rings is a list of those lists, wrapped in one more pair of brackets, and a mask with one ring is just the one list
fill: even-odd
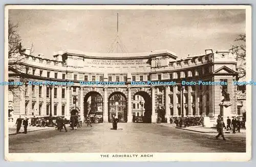
[[(228, 50), (245, 33), (245, 10), (9, 10), (22, 45), (53, 58), (59, 50), (108, 53), (118, 33), (127, 53), (169, 50), (178, 57)], [(119, 50), (121, 52), (121, 50)]]

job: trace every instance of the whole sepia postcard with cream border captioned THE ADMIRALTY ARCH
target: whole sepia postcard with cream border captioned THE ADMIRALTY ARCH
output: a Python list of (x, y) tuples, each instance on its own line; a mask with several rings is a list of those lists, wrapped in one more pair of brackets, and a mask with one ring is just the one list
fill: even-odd
[(7, 5), (8, 161), (248, 161), (251, 6)]

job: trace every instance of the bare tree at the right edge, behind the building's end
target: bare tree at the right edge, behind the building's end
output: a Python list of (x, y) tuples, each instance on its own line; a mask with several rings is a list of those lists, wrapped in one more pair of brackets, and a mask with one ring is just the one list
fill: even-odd
[(237, 55), (237, 68), (239, 73), (239, 79), (246, 76), (246, 35), (239, 34), (239, 36), (234, 40), (238, 44), (232, 45), (232, 52)]

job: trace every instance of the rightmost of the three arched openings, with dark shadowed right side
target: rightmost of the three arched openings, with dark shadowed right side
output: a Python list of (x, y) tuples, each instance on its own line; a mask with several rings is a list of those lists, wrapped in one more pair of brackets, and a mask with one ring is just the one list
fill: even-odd
[(138, 91), (132, 99), (133, 122), (151, 123), (152, 100), (145, 91)]

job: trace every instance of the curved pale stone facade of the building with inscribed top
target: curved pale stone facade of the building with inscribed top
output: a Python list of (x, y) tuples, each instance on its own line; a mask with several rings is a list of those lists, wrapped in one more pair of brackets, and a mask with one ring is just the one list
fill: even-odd
[[(201, 115), (205, 124), (213, 124), (218, 114), (237, 115), (237, 87), (232, 84), (237, 78), (236, 56), (226, 51), (213, 53), (206, 50), (205, 55), (184, 59), (178, 59), (167, 50), (137, 54), (66, 51), (56, 53), (53, 60), (28, 53), (28, 49), (22, 53), (21, 68), (9, 69), (9, 80), (17, 81), (23, 77), (27, 81), (73, 82), (74, 85), (15, 88), (13, 117), (49, 115), (50, 107), (52, 115), (69, 116), (76, 109), (83, 116), (90, 112), (88, 99), (93, 94), (102, 98), (102, 106), (99, 103), (97, 110), (102, 112), (104, 122), (111, 120), (116, 107), (118, 112), (122, 107), (123, 122), (132, 122), (136, 95), (143, 97), (143, 116), (151, 123), (156, 122), (157, 116), (169, 120), (170, 116), (184, 114)], [(87, 81), (120, 84), (81, 84)], [(160, 82), (147, 84), (147, 81)], [(183, 86), (182, 81), (186, 81)], [(190, 81), (223, 81), (228, 85), (189, 85)], [(166, 82), (169, 83), (166, 85)], [(229, 99), (223, 99), (223, 90)], [(116, 99), (117, 95), (119, 99)], [(116, 106), (115, 101), (120, 103)]]

